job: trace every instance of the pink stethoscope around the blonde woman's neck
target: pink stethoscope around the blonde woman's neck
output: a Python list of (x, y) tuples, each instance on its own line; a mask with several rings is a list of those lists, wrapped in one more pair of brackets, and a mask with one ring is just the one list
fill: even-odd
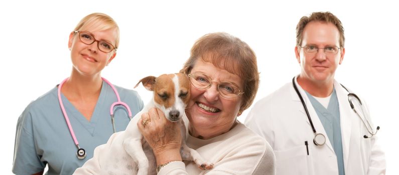
[[(86, 151), (83, 148), (79, 147), (79, 142), (76, 139), (76, 136), (75, 136), (75, 133), (73, 132), (71, 123), (69, 122), (68, 114), (66, 113), (64, 104), (62, 103), (62, 100), (61, 100), (61, 87), (62, 87), (62, 84), (64, 84), (64, 82), (66, 80), (68, 80), (68, 79), (69, 78), (65, 78), (60, 83), (60, 85), (58, 85), (58, 101), (60, 102), (62, 113), (64, 114), (65, 121), (66, 121), (66, 123), (67, 123), (67, 125), (69, 127), (69, 132), (71, 132), (71, 136), (73, 138), (73, 141), (75, 142), (75, 145), (76, 145), (76, 147), (78, 149), (78, 151), (76, 152), (76, 156), (79, 159), (84, 159), (86, 157)], [(111, 114), (111, 122), (112, 122), (113, 133), (115, 133), (115, 122), (114, 122), (115, 120), (114, 120), (114, 116), (113, 116), (113, 107), (115, 105), (123, 105), (127, 109), (129, 119), (131, 119), (131, 111), (130, 111), (129, 106), (126, 103), (120, 101), (119, 93), (116, 91), (116, 88), (108, 80), (106, 80), (105, 78), (101, 77), (101, 79), (104, 80), (107, 84), (109, 84), (109, 86), (112, 87), (113, 91), (115, 92), (116, 98), (118, 99), (118, 101), (112, 103), (111, 108), (109, 109), (109, 113)]]

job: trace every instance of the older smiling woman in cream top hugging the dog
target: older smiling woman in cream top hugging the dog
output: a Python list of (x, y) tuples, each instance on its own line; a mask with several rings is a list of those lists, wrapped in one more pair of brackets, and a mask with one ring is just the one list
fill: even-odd
[[(275, 155), (269, 143), (237, 120), (258, 88), (252, 49), (227, 33), (206, 34), (195, 42), (182, 71), (192, 84), (186, 109), (188, 137), (181, 138), (177, 124), (159, 109), (142, 115), (150, 123), (138, 122), (153, 148), (158, 174), (275, 174)], [(181, 139), (187, 139), (213, 168), (200, 169), (182, 160)]]

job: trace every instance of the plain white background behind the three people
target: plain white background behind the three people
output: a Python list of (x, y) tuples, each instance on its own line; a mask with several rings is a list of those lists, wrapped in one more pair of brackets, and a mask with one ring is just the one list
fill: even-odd
[[(225, 31), (247, 42), (257, 55), (261, 80), (257, 101), (299, 73), (294, 46), (300, 17), (331, 11), (341, 19), (346, 37), (346, 54), (336, 79), (367, 100), (374, 123), (381, 126), (378, 136), (386, 154), (387, 174), (399, 174), (399, 154), (393, 144), (399, 133), (395, 110), (399, 104), (397, 7), (384, 0), (2, 2), (0, 173), (11, 173), (19, 115), (30, 101), (69, 76), (68, 36), (89, 13), (106, 13), (120, 27), (117, 55), (102, 72), (112, 83), (133, 88), (142, 77), (177, 72), (197, 38)], [(142, 86), (136, 90), (145, 103), (151, 98)], [(239, 120), (244, 121), (248, 111)]]

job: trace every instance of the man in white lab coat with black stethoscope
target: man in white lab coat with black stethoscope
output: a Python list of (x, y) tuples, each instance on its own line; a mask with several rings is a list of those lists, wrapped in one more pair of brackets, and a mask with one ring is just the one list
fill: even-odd
[(277, 174), (385, 174), (378, 129), (365, 102), (359, 98), (360, 105), (357, 95), (349, 101), (353, 92), (334, 79), (344, 42), (334, 14), (303, 16), (295, 46), (301, 73), (255, 103), (246, 117), (245, 124), (272, 145)]

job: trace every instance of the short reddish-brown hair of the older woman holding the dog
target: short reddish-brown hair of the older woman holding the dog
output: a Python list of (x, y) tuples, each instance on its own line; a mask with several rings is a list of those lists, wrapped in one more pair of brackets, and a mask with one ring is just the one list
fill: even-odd
[(259, 86), (259, 73), (256, 55), (248, 44), (224, 32), (205, 34), (194, 43), (181, 72), (190, 73), (198, 59), (211, 62), (242, 79), (244, 93), (239, 113), (252, 104)]

